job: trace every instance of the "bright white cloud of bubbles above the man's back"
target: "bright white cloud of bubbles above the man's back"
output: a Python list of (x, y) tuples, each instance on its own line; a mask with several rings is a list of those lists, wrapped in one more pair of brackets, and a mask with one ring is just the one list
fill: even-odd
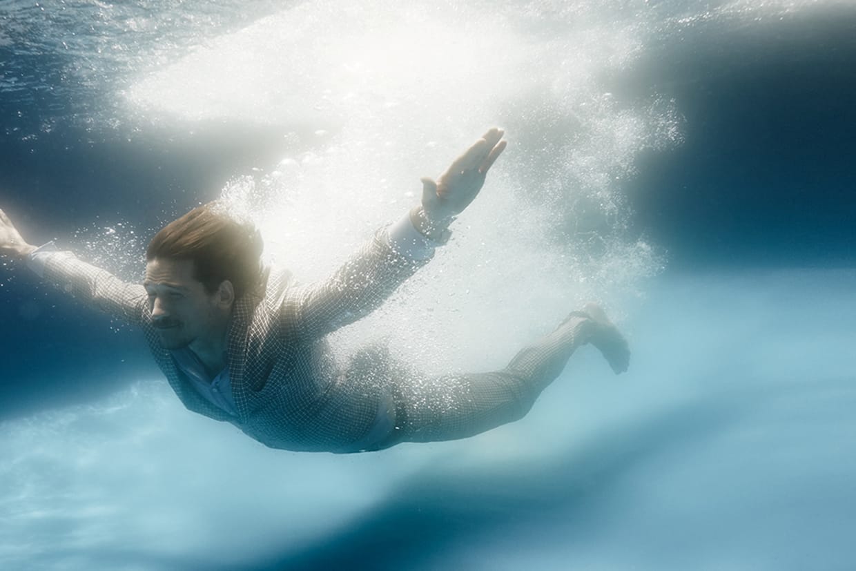
[(436, 370), (496, 366), (582, 300), (615, 306), (663, 265), (628, 234), (623, 188), (641, 150), (681, 143), (678, 104), (657, 93), (628, 104), (605, 78), (657, 34), (795, 7), (317, 0), (200, 45), (128, 100), (179, 130), (282, 129), (278, 164), (235, 173), (223, 194), (304, 280), (407, 211), (420, 175), (438, 175), (484, 128), (507, 128), (455, 242), (339, 341), (387, 336)]

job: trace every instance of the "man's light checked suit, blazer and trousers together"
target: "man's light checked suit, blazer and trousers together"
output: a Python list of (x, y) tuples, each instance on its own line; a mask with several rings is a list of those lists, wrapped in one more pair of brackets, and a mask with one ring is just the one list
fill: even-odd
[[(372, 312), (427, 261), (396, 253), (382, 229), (321, 283), (298, 285), (288, 272), (266, 269), (258, 288), (235, 301), (229, 326), (237, 417), (200, 396), (160, 347), (142, 285), (124, 283), (71, 253), (51, 257), (45, 280), (139, 325), (189, 410), (228, 421), (271, 448), (356, 452), (469, 437), (520, 419), (585, 337), (586, 319), (569, 318), (508, 367), (490, 373), (428, 377), (393, 360), (383, 347), (338, 364), (325, 336)], [(393, 421), (377, 437), (383, 415)]]

